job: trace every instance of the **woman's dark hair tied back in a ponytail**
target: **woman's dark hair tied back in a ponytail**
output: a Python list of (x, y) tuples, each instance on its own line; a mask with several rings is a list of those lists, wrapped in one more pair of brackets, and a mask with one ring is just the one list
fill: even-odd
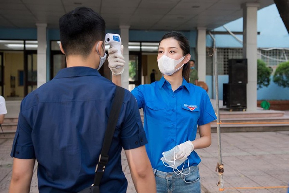
[[(181, 49), (183, 50), (183, 56), (185, 56), (186, 54), (190, 54), (189, 41), (183, 34), (181, 34), (179, 32), (174, 32), (174, 31), (168, 32), (162, 37), (162, 39), (160, 40), (160, 43), (162, 40), (167, 39), (167, 38), (174, 38), (175, 40), (177, 40), (179, 42), (179, 45), (180, 45)], [(184, 64), (182, 75), (186, 79), (186, 81), (189, 82), (190, 65), (188, 63)]]

